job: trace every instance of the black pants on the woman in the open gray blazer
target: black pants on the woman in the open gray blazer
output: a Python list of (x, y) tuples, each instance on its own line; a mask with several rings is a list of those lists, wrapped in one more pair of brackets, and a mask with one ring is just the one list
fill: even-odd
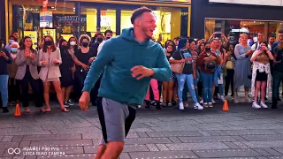
[(20, 81), (23, 107), (28, 107), (28, 83), (30, 83), (31, 87), (33, 88), (35, 107), (42, 107), (43, 96), (40, 92), (40, 79), (34, 79), (28, 69), (24, 79), (21, 79)]

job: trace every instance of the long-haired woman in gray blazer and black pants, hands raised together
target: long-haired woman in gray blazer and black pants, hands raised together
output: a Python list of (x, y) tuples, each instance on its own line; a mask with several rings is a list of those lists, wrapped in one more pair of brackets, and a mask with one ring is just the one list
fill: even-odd
[(23, 38), (23, 43), (19, 47), (15, 63), (18, 65), (15, 79), (20, 81), (22, 106), (25, 108), (25, 112), (30, 112), (28, 109), (29, 85), (33, 88), (35, 107), (39, 108), (40, 111), (44, 111), (37, 71), (38, 53), (36, 49), (33, 49), (33, 42), (30, 37), (26, 36)]

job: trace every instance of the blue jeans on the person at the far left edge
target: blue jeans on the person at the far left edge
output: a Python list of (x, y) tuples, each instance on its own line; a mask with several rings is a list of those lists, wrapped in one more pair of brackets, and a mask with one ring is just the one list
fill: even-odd
[(0, 75), (0, 93), (3, 107), (7, 107), (8, 103), (8, 79), (9, 75)]

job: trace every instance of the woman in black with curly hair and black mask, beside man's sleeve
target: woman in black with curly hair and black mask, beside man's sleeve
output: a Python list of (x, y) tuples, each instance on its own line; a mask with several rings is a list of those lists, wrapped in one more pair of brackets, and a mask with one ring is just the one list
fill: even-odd
[[(88, 34), (80, 35), (80, 49), (74, 53), (74, 63), (76, 64), (74, 91), (76, 96), (81, 95), (83, 82), (87, 77), (89, 67), (95, 60), (96, 51), (89, 47), (90, 37)], [(95, 104), (95, 103), (93, 103)]]

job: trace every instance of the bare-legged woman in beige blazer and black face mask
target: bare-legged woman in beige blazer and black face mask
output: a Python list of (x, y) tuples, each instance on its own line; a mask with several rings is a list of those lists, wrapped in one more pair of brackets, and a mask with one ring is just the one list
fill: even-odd
[(57, 94), (57, 100), (60, 104), (61, 110), (68, 112), (64, 106), (64, 99), (62, 95), (60, 77), (61, 72), (59, 65), (62, 64), (62, 58), (60, 50), (57, 49), (53, 38), (48, 35), (44, 38), (43, 49), (39, 51), (39, 65), (42, 66), (41, 72), (39, 73), (40, 78), (43, 82), (44, 88), (44, 100), (47, 109), (46, 112), (50, 112), (50, 82), (52, 82), (54, 89)]

